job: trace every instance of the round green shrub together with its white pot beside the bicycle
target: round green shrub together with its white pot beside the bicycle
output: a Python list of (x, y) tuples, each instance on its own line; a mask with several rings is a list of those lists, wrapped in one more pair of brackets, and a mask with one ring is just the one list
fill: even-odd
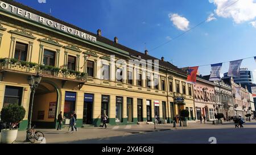
[(9, 104), (2, 108), (1, 122), (7, 125), (1, 131), (1, 143), (11, 144), (16, 140), (18, 133), (17, 124), (22, 122), (25, 113), (25, 109), (18, 104)]

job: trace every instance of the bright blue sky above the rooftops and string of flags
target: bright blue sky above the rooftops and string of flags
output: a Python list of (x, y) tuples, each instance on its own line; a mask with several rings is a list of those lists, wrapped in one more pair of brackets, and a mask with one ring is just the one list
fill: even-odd
[[(150, 55), (164, 56), (166, 61), (179, 68), (256, 56), (254, 0), (16, 1), (46, 13), (51, 9), (52, 16), (90, 32), (96, 33), (100, 28), (103, 36), (112, 40), (117, 36), (120, 44), (140, 52), (144, 51), (146, 43)], [(212, 13), (214, 20), (154, 49), (196, 26)], [(171, 20), (172, 15), (178, 18)], [(243, 60), (241, 67), (256, 73), (253, 58)], [(228, 68), (229, 63), (223, 64), (221, 73), (228, 72)], [(200, 67), (199, 72), (209, 74), (210, 65)]]

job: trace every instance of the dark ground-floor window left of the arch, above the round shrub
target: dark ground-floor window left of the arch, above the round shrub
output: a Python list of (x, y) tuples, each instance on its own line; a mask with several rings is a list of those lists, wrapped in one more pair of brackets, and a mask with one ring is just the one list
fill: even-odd
[(3, 107), (9, 104), (21, 104), (23, 87), (6, 86)]

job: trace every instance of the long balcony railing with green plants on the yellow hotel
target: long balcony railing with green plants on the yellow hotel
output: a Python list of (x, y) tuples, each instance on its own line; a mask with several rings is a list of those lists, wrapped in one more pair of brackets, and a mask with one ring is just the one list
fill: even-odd
[(74, 70), (60, 69), (54, 66), (40, 65), (33, 62), (20, 61), (15, 58), (0, 58), (0, 70), (11, 70), (23, 73), (39, 73), (48, 77), (62, 78), (75, 81), (86, 81), (87, 74)]

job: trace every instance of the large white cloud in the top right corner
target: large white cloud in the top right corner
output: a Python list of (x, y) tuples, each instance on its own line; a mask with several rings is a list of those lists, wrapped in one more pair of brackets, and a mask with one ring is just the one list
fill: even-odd
[(235, 23), (253, 20), (256, 17), (255, 0), (209, 0), (217, 7), (215, 13), (223, 18), (233, 18)]

